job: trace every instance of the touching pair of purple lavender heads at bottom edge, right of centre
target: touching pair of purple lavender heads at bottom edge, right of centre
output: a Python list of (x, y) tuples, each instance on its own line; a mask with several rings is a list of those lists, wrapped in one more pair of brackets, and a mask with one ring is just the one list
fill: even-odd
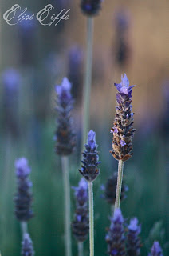
[(140, 226), (136, 218), (131, 220), (127, 236), (124, 231), (124, 218), (121, 214), (120, 209), (116, 209), (111, 225), (106, 235), (106, 242), (108, 243), (108, 254), (111, 256), (115, 255), (128, 255), (128, 256), (139, 256), (140, 255)]

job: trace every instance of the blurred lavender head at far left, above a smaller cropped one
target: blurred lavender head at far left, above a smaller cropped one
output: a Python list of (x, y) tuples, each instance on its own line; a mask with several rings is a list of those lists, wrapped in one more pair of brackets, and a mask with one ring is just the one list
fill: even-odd
[(33, 195), (30, 191), (32, 182), (29, 180), (30, 168), (26, 158), (19, 158), (15, 162), (18, 182), (17, 194), (15, 195), (15, 216), (20, 222), (28, 221), (33, 217), (31, 210)]

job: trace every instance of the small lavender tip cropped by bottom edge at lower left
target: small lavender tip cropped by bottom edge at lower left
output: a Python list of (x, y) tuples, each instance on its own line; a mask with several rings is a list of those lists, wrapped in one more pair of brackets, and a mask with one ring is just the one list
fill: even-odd
[(25, 233), (22, 240), (22, 256), (33, 256), (33, 243), (28, 233)]

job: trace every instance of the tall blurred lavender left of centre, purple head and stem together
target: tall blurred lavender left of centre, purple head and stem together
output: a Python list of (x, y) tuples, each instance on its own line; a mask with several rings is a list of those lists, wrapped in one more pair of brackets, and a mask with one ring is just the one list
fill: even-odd
[(70, 187), (69, 187), (69, 154), (73, 153), (76, 146), (75, 134), (73, 132), (73, 120), (71, 110), (73, 109), (73, 98), (71, 95), (71, 84), (67, 78), (56, 86), (57, 92), (57, 131), (56, 131), (56, 154), (61, 155), (61, 166), (63, 171), (65, 190), (65, 255), (72, 255), (71, 232), (70, 232)]

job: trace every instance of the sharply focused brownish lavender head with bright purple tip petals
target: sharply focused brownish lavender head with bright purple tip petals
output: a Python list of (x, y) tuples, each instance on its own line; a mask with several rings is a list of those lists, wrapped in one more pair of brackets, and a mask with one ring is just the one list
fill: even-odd
[(112, 156), (116, 160), (127, 161), (132, 157), (132, 137), (135, 133), (133, 129), (132, 113), (132, 87), (129, 86), (127, 75), (121, 76), (120, 84), (115, 83), (118, 90), (116, 94), (116, 115), (114, 126), (112, 127)]

